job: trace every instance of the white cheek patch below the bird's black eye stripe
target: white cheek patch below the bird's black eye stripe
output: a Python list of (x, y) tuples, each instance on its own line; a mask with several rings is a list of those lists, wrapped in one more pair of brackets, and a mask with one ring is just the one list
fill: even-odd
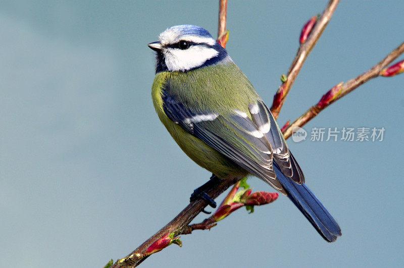
[(205, 45), (192, 45), (188, 49), (167, 48), (165, 61), (169, 71), (188, 71), (217, 56), (218, 51)]

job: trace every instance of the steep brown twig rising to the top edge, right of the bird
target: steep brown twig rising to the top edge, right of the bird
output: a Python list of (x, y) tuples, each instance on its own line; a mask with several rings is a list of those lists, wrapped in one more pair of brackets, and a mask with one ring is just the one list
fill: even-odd
[(274, 101), (272, 103), (271, 112), (274, 115), (275, 119), (278, 119), (279, 112), (282, 109), (282, 106), (285, 102), (287, 95), (291, 87), (293, 86), (294, 81), (296, 80), (297, 75), (300, 72), (301, 66), (305, 63), (307, 56), (312, 51), (313, 47), (316, 45), (319, 40), (321, 34), (323, 33), (325, 27), (330, 21), (334, 11), (339, 3), (339, 0), (330, 0), (326, 9), (324, 10), (321, 17), (317, 20), (316, 26), (314, 26), (311, 31), (309, 37), (307, 38), (305, 43), (300, 44), (300, 47), (297, 51), (295, 58), (289, 68), (287, 73), (287, 80), (284, 82), (276, 92), (274, 96)]

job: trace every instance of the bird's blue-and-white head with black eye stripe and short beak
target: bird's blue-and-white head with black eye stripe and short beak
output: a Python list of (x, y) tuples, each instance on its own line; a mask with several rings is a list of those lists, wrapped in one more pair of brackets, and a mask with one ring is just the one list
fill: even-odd
[(148, 47), (157, 52), (156, 73), (186, 72), (227, 57), (226, 49), (207, 30), (194, 25), (168, 28), (160, 34), (159, 41)]

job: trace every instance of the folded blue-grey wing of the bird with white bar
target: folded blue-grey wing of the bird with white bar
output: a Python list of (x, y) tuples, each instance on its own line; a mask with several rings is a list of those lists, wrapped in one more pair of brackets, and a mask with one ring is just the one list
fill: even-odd
[[(173, 122), (275, 189), (285, 193), (276, 178), (272, 161), (275, 160), (276, 163), (279, 161), (281, 164), (278, 166), (282, 166), (282, 170), (292, 170), (286, 173), (292, 178), (293, 169), (298, 168), (298, 165), (294, 164), (292, 157), (289, 157), (283, 136), (261, 100), (258, 111), (254, 105), (249, 107), (252, 110), (251, 120), (245, 112), (236, 110), (234, 114), (221, 115), (215, 111), (192, 109), (165, 91), (162, 98), (164, 111)], [(265, 130), (267, 133), (264, 135)], [(276, 132), (272, 133), (275, 130)]]

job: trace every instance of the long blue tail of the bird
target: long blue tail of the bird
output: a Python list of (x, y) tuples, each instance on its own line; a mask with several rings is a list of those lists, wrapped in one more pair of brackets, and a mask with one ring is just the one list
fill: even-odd
[(288, 193), (293, 204), (303, 213), (317, 232), (328, 242), (334, 242), (341, 236), (341, 229), (319, 199), (304, 183), (297, 184), (283, 175), (274, 163), (274, 170), (279, 182)]

